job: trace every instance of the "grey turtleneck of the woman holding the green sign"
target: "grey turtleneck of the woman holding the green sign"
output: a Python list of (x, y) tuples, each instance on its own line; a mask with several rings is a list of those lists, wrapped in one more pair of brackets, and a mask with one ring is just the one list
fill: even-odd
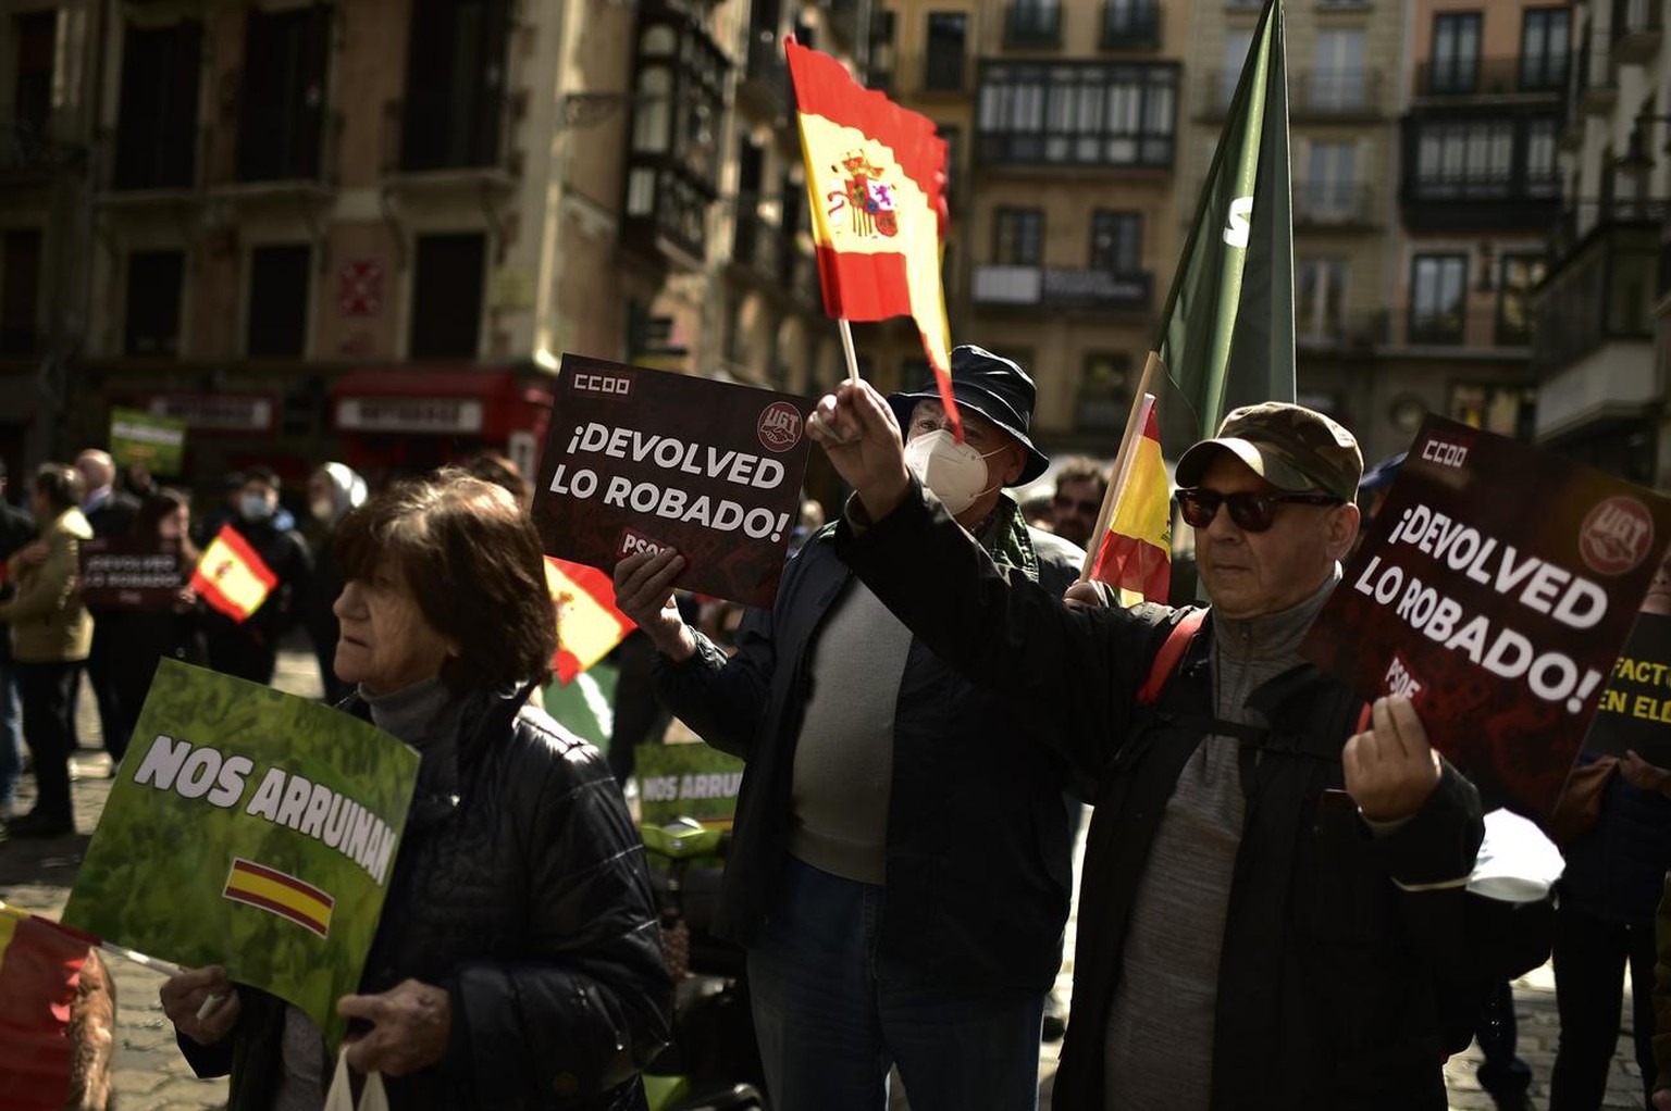
[[(458, 725), (465, 698), (439, 678), (403, 687), (386, 695), (359, 688), (371, 722), (423, 753), (418, 765), (419, 795), (458, 794)], [(284, 1007), (282, 1073), (272, 1096), (274, 1111), (319, 1111), (329, 1083), (319, 1027), (294, 1006)]]

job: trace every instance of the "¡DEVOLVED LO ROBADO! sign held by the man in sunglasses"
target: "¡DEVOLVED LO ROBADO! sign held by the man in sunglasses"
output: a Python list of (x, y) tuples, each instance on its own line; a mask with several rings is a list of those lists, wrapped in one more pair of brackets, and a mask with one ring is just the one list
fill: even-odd
[(1666, 498), (1430, 416), (1302, 652), (1547, 815), (1668, 538)]

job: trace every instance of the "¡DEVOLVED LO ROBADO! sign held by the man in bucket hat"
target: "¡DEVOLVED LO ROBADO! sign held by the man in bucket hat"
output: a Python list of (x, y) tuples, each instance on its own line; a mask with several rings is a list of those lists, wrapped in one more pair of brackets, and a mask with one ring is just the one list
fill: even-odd
[(794, 394), (565, 354), (533, 508), (546, 555), (613, 571), (677, 548), (680, 586), (770, 605), (810, 411)]

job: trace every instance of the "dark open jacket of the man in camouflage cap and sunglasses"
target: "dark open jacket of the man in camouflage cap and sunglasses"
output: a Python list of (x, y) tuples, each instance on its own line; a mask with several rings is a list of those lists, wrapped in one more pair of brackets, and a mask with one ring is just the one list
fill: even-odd
[[(921, 495), (837, 551), (934, 652), (1019, 697), (1095, 779), (1059, 1111), (1105, 1106), (1105, 1043), (1131, 906), (1178, 774), (1210, 717), (1211, 632), (1153, 707), (1136, 692), (1183, 610), (1074, 611), (1008, 580)], [(1489, 976), (1469, 899), (1479, 795), (1449, 765), (1427, 804), (1374, 837), (1338, 752), (1362, 702), (1303, 665), (1253, 692), (1270, 722), (1243, 738), (1247, 815), (1232, 879), (1210, 1064), (1213, 1111), (1445, 1106), (1440, 984)], [(1222, 725), (1222, 723), (1220, 723)], [(1018, 738), (1019, 750), (1031, 743)], [(1394, 882), (1397, 880), (1397, 884)], [(1522, 969), (1524, 971), (1524, 969)]]

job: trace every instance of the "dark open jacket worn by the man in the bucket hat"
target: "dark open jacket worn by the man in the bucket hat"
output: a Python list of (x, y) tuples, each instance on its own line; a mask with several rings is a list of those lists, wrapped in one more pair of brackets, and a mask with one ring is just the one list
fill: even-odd
[[(668, 710), (749, 762), (715, 922), (744, 944), (770, 907), (787, 852), (809, 650), (854, 588), (830, 531), (784, 570), (772, 610), (750, 611), (730, 660), (700, 635), (690, 660), (657, 660)], [(1028, 538), (1041, 588), (1061, 595), (1079, 550), (1049, 533)], [(1028, 713), (1006, 710), (912, 640), (894, 708), (884, 974), (978, 992), (1049, 989), (1073, 894), (1068, 774), (1054, 753), (1018, 743), (1028, 727)]]

